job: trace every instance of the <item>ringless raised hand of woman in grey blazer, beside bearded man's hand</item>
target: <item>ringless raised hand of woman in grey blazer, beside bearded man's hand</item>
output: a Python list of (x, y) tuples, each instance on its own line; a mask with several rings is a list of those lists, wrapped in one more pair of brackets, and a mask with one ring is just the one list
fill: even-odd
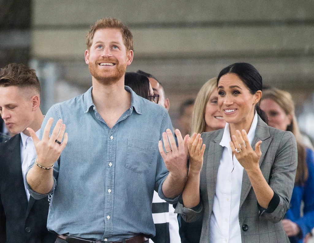
[(203, 156), (205, 151), (205, 144), (202, 146), (203, 139), (200, 134), (193, 133), (192, 138), (188, 139), (188, 153), (189, 153), (189, 173), (200, 173), (203, 166)]

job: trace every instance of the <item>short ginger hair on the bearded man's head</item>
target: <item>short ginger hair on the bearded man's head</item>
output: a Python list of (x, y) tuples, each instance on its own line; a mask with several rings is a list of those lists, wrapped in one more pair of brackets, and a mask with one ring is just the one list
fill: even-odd
[(119, 19), (113, 19), (113, 18), (103, 18), (103, 19), (97, 20), (96, 23), (90, 27), (90, 30), (86, 35), (86, 45), (87, 45), (88, 50), (92, 46), (93, 38), (94, 38), (96, 30), (100, 30), (100, 29), (121, 30), (123, 43), (127, 51), (133, 50), (133, 35), (131, 31)]

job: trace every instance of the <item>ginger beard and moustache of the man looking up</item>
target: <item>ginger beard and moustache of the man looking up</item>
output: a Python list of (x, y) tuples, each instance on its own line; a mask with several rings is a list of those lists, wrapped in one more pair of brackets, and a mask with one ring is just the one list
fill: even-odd
[[(100, 70), (98, 69), (99, 63), (114, 63), (114, 69)], [(98, 59), (95, 63), (88, 64), (90, 74), (100, 83), (111, 85), (115, 84), (125, 74), (127, 64), (119, 63), (118, 60)]]

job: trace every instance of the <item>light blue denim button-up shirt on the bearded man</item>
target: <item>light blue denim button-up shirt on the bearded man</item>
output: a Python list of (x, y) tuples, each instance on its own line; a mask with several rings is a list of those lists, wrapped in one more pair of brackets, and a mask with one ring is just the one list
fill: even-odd
[[(128, 86), (125, 89), (131, 92), (131, 107), (111, 129), (97, 113), (92, 87), (47, 112), (40, 139), (50, 117), (54, 118), (51, 132), (63, 119), (69, 137), (60, 166), (57, 162), (54, 166), (50, 231), (108, 241), (140, 233), (155, 235), (153, 192), (165, 199), (162, 183), (169, 173), (158, 141), (167, 128), (172, 130), (171, 120), (165, 108), (139, 97)], [(34, 161), (35, 157), (30, 168)], [(48, 195), (28, 189), (35, 199)]]

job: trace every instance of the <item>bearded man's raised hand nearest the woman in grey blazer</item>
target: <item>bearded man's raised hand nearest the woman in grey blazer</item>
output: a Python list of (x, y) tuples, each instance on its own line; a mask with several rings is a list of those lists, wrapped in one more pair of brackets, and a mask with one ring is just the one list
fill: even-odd
[[(170, 174), (185, 175), (187, 174), (187, 139), (189, 135), (186, 135), (184, 139), (182, 138), (179, 129), (176, 129), (176, 135), (178, 139), (178, 147), (176, 146), (175, 138), (171, 130), (168, 128), (166, 132), (162, 133), (162, 139), (164, 142), (164, 148), (162, 146), (162, 141), (159, 141), (158, 148), (161, 157), (164, 159), (166, 168), (169, 170)], [(170, 144), (168, 142), (168, 138)]]

